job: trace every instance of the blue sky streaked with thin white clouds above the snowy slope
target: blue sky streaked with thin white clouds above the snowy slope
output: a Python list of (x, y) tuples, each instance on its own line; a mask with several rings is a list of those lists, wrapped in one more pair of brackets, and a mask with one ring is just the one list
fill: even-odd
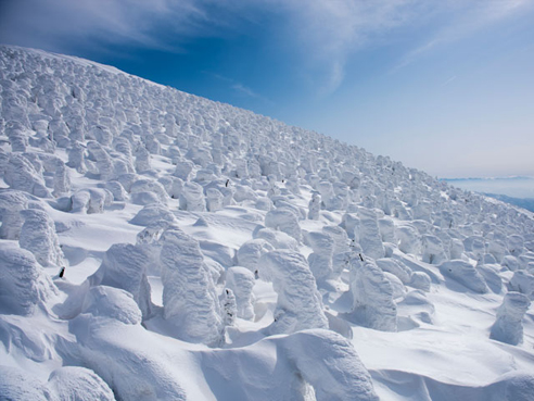
[(534, 0), (0, 0), (79, 55), (438, 177), (534, 176)]

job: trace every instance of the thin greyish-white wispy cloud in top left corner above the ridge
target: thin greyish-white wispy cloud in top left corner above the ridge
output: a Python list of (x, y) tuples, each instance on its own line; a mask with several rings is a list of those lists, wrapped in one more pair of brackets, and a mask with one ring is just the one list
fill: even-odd
[[(199, 0), (17, 0), (0, 4), (0, 41), (48, 50), (131, 45), (180, 51), (224, 25)], [(225, 20), (226, 21), (226, 20)]]

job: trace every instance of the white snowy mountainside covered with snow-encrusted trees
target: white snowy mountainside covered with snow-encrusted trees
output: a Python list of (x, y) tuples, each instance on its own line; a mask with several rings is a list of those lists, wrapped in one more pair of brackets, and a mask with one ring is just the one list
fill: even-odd
[(534, 400), (534, 218), (0, 47), (0, 400)]

